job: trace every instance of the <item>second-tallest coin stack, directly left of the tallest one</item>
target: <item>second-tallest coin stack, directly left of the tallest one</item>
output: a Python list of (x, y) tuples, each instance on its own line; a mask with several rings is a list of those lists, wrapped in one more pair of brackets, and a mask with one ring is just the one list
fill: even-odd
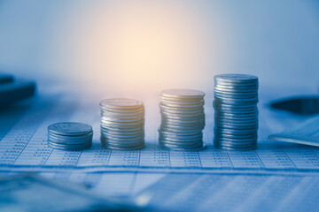
[(204, 95), (190, 89), (169, 89), (160, 93), (160, 146), (176, 150), (203, 148)]

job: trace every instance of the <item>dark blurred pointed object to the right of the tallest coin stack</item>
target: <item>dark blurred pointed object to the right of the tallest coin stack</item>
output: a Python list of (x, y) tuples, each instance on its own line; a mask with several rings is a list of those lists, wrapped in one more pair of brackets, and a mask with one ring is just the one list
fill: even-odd
[(270, 102), (270, 107), (299, 115), (315, 115), (319, 113), (319, 96), (309, 95), (286, 98)]

